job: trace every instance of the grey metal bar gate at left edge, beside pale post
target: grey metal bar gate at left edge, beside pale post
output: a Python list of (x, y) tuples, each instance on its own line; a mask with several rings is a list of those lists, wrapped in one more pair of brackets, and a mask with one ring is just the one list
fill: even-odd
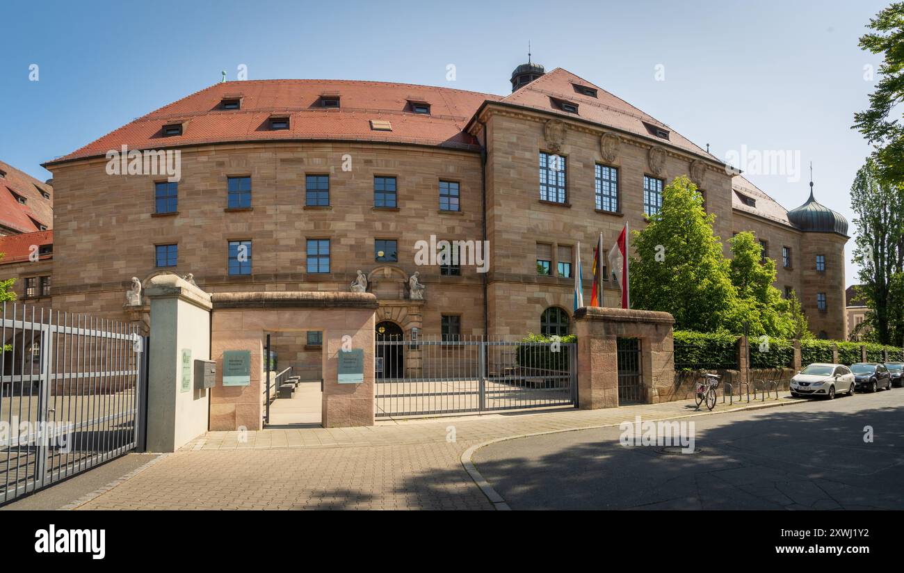
[(134, 449), (146, 343), (133, 324), (3, 303), (0, 503)]

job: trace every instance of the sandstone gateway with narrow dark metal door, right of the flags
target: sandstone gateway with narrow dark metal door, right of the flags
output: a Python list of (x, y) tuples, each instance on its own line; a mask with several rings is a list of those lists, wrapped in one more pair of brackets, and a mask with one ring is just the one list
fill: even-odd
[(668, 399), (674, 386), (674, 318), (668, 313), (589, 306), (574, 313), (578, 336), (578, 406), (618, 406), (618, 338), (640, 339), (647, 403)]

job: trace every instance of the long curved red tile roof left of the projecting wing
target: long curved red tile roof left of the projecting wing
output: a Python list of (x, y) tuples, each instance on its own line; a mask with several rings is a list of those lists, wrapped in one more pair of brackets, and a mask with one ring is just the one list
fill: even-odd
[[(339, 96), (340, 108), (323, 108), (321, 96)], [(220, 108), (222, 99), (241, 99), (241, 108)], [(498, 96), (379, 81), (246, 80), (212, 85), (120, 127), (47, 164), (105, 155), (108, 150), (279, 139), (366, 140), (429, 146), (476, 146), (463, 129), (477, 108)], [(409, 101), (426, 102), (430, 114), (410, 112)], [(290, 127), (270, 130), (268, 118), (288, 115)], [(371, 120), (389, 121), (391, 131), (374, 131)], [(182, 136), (164, 137), (167, 123), (183, 122)]]

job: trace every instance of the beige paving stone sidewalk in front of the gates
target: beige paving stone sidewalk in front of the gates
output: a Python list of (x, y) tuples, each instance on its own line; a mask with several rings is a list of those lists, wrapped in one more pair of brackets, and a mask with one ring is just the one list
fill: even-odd
[[(719, 404), (792, 406), (800, 400)], [(76, 509), (493, 509), (461, 454), (497, 437), (709, 414), (692, 400), (380, 422), (373, 427), (208, 432)]]

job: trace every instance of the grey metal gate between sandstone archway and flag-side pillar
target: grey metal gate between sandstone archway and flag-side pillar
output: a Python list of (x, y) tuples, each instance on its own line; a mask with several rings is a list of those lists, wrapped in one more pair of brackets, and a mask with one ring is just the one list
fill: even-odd
[(576, 343), (377, 337), (376, 416), (577, 404)]

